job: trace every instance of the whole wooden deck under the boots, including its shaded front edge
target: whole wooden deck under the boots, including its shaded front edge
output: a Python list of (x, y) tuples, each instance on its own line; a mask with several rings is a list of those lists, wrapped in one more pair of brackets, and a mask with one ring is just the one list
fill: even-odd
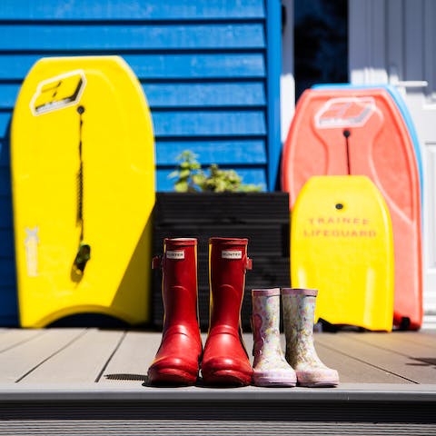
[[(252, 335), (244, 339), (250, 350)], [(275, 434), (306, 434), (304, 422), (317, 434), (372, 434), (364, 426), (374, 422), (376, 434), (436, 434), (436, 331), (316, 333), (322, 361), (340, 373), (332, 389), (150, 387), (146, 372), (160, 340), (160, 332), (134, 330), (0, 330), (0, 434), (34, 434), (19, 425), (30, 421), (45, 434), (75, 434), (73, 422), (95, 420), (114, 421), (101, 434), (272, 434), (265, 429), (279, 421), (287, 430)], [(236, 419), (246, 422), (240, 432)], [(121, 431), (123, 421), (143, 426)], [(55, 422), (61, 430), (47, 432)], [(199, 422), (214, 422), (214, 432)], [(224, 422), (227, 432), (218, 431)]]

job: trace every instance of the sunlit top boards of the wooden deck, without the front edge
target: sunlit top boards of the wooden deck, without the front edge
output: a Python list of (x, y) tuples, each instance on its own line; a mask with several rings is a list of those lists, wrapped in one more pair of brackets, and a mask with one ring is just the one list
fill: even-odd
[[(251, 350), (252, 335), (245, 333), (244, 340)], [(132, 330), (0, 330), (0, 395), (6, 389), (65, 384), (73, 389), (84, 383), (156, 391), (144, 381), (160, 341), (160, 332)], [(315, 344), (322, 361), (340, 373), (336, 391), (351, 384), (360, 389), (423, 384), (436, 390), (436, 331), (322, 332), (315, 333)]]

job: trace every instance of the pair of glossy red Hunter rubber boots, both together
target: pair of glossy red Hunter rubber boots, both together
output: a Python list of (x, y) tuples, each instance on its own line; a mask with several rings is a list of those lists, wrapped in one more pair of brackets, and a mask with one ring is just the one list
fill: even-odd
[(241, 306), (245, 272), (252, 263), (247, 239), (209, 240), (210, 321), (202, 344), (197, 303), (197, 240), (165, 239), (162, 267), (163, 337), (148, 381), (154, 385), (192, 385), (201, 369), (203, 383), (245, 386), (253, 368), (243, 345)]

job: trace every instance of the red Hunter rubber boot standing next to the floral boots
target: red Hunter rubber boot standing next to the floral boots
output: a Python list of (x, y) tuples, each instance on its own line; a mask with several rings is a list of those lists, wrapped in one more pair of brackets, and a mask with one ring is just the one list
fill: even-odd
[(209, 240), (211, 316), (202, 361), (205, 384), (245, 386), (252, 381), (241, 328), (245, 271), (251, 269), (247, 243), (234, 238)]

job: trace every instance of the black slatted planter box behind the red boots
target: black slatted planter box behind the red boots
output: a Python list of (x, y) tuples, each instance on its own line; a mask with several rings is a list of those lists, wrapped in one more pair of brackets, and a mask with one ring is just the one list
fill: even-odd
[[(208, 241), (212, 236), (248, 238), (253, 270), (247, 271), (243, 328), (250, 329), (251, 290), (289, 287), (288, 193), (157, 193), (154, 208), (154, 254), (163, 253), (163, 238), (198, 239), (200, 325), (209, 324)], [(163, 325), (162, 274), (153, 274), (152, 320)]]

